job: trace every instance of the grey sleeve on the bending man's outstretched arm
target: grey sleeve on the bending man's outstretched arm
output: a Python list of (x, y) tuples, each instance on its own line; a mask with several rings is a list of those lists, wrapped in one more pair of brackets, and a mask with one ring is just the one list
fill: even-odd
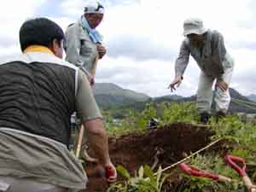
[(175, 77), (183, 76), (183, 73), (185, 72), (185, 69), (189, 64), (189, 55), (190, 49), (185, 39), (181, 44), (179, 54), (175, 61)]

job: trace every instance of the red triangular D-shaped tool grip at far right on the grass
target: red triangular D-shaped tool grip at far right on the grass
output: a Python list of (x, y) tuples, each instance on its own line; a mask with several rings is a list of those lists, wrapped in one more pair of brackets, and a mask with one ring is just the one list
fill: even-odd
[[(241, 177), (247, 176), (247, 173), (246, 173), (247, 165), (246, 165), (246, 162), (243, 158), (227, 154), (225, 156), (225, 160), (228, 162), (228, 164), (230, 164), (230, 166), (232, 166), (236, 170), (236, 172), (238, 172), (238, 174)], [(241, 163), (242, 167), (237, 166), (236, 162)]]

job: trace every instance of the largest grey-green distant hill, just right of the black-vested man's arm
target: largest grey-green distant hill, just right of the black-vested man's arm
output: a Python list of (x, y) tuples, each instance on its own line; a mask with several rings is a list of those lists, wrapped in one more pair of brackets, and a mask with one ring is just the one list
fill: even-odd
[(96, 84), (93, 88), (96, 102), (101, 108), (118, 108), (136, 102), (147, 102), (149, 96), (134, 90), (125, 90), (116, 84)]

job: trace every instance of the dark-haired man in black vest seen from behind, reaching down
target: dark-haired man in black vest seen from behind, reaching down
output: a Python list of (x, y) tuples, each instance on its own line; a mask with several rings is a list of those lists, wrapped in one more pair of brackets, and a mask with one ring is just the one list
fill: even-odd
[(20, 27), (22, 54), (0, 62), (0, 191), (85, 189), (87, 177), (68, 151), (71, 115), (82, 120), (99, 163), (115, 180), (108, 136), (86, 75), (62, 61), (64, 33), (37, 18)]

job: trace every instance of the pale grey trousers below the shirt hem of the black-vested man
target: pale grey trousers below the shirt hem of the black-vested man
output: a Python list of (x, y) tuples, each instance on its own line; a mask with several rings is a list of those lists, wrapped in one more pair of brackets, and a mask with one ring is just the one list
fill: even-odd
[(67, 189), (27, 178), (0, 177), (0, 192), (67, 192)]

